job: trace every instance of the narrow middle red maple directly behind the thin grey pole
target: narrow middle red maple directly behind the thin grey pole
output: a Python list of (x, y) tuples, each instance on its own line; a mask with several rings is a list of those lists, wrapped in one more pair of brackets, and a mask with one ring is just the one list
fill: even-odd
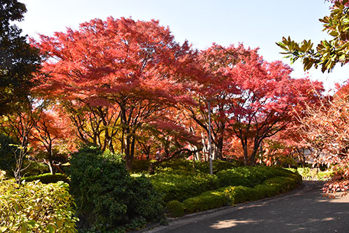
[[(224, 137), (228, 128), (228, 103), (237, 94), (235, 80), (226, 70), (244, 62), (251, 55), (250, 48), (239, 44), (223, 47), (213, 44), (207, 50), (200, 51), (196, 64), (201, 71), (193, 82), (193, 99), (195, 104), (187, 105), (188, 115), (209, 134), (208, 102), (211, 111), (211, 141), (213, 158), (223, 158)], [(203, 140), (203, 148), (208, 148)]]

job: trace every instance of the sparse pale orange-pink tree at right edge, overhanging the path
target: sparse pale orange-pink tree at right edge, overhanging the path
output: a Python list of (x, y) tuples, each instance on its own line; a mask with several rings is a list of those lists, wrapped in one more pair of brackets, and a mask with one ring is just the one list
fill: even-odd
[(322, 99), (317, 108), (308, 107), (302, 122), (304, 141), (313, 148), (313, 160), (331, 167), (334, 176), (325, 185), (325, 192), (349, 189), (349, 101), (341, 98)]

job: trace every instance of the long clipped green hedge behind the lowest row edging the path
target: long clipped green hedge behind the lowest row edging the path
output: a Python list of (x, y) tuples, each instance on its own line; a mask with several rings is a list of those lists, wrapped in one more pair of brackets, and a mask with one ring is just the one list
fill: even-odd
[(203, 173), (193, 175), (166, 168), (163, 169), (163, 172), (149, 178), (156, 191), (163, 195), (165, 202), (172, 200), (182, 202), (190, 197), (196, 197), (202, 192), (222, 187), (244, 186), (253, 188), (255, 185), (262, 184), (267, 179), (276, 176), (295, 176), (302, 181), (302, 177), (292, 173), (292, 171), (274, 167), (236, 167), (218, 171), (216, 175)]

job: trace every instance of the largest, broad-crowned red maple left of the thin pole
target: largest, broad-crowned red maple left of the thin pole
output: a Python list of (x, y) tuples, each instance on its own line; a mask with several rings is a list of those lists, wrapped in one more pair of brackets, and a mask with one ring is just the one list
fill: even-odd
[[(92, 134), (103, 128), (105, 148), (112, 150), (116, 135), (110, 130), (118, 126), (128, 168), (140, 127), (166, 106), (186, 99), (181, 77), (188, 75), (187, 59), (193, 51), (187, 42), (176, 43), (170, 29), (158, 21), (96, 19), (78, 30), (40, 36), (35, 44), (48, 57), (42, 69), (45, 82), (38, 90), (58, 99), (81, 132), (80, 122), (94, 118)], [(74, 120), (76, 112), (87, 108), (89, 115)]]

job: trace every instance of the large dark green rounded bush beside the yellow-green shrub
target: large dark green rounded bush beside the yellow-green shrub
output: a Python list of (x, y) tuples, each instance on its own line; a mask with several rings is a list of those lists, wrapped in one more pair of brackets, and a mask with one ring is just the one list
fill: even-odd
[(111, 230), (135, 218), (153, 221), (163, 216), (161, 197), (147, 178), (128, 174), (121, 156), (81, 148), (72, 155), (69, 174), (82, 228)]

